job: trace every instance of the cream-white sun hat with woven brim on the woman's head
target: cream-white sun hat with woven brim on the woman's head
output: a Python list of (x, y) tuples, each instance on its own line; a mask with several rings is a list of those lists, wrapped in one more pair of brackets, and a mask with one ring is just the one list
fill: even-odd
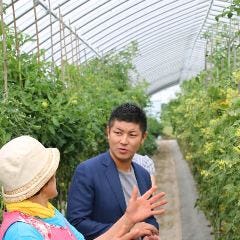
[(0, 183), (6, 203), (36, 194), (54, 175), (60, 153), (30, 136), (12, 139), (0, 149)]

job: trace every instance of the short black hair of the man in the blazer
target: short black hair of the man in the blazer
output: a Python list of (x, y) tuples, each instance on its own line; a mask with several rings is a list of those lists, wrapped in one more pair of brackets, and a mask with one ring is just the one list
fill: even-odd
[(147, 131), (147, 117), (145, 112), (133, 103), (123, 103), (116, 107), (109, 118), (108, 126), (111, 127), (115, 120), (139, 124), (142, 133)]

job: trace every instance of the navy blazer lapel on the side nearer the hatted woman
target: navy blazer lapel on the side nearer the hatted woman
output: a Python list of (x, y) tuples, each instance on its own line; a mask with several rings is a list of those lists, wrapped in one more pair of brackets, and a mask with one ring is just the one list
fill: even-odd
[(103, 165), (106, 167), (105, 175), (108, 180), (108, 183), (111, 186), (112, 192), (115, 195), (122, 212), (124, 213), (126, 210), (126, 203), (122, 190), (122, 185), (119, 179), (119, 174), (116, 165), (109, 153), (106, 154), (106, 157), (103, 160)]

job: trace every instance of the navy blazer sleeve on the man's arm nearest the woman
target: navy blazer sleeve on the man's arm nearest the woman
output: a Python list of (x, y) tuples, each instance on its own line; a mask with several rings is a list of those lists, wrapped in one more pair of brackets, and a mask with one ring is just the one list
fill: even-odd
[(80, 164), (73, 175), (68, 192), (67, 219), (86, 240), (94, 239), (113, 225), (113, 223), (101, 223), (91, 219), (94, 202), (92, 174), (87, 171), (85, 164)]

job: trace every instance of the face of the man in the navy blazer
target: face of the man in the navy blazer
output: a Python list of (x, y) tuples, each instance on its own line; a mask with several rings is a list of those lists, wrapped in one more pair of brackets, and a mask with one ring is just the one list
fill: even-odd
[(115, 120), (107, 129), (110, 154), (116, 162), (129, 162), (144, 142), (146, 133), (142, 133), (137, 123)]

